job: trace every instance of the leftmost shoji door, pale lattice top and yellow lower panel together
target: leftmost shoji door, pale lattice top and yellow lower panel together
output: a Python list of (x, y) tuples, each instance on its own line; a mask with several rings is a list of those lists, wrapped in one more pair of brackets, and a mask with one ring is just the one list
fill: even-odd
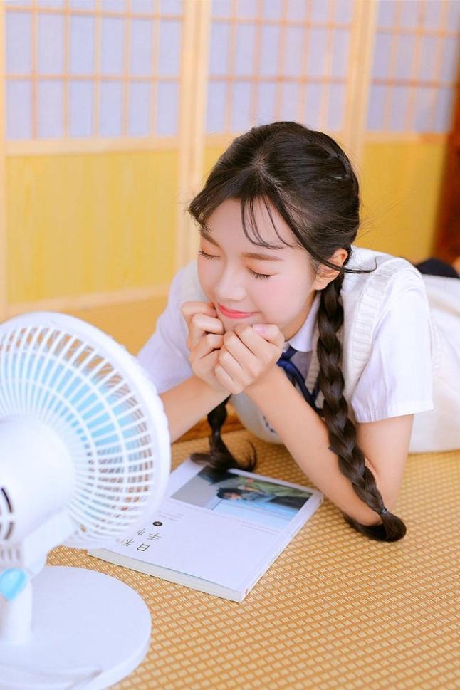
[(164, 300), (194, 4), (16, 0), (0, 13), (0, 316)]

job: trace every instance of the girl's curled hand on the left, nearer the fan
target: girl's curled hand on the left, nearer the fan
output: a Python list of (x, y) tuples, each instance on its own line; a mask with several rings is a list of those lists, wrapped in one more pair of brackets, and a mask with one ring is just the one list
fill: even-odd
[(215, 390), (230, 391), (217, 380), (214, 369), (224, 343), (224, 324), (217, 318), (211, 302), (184, 302), (182, 315), (187, 322), (187, 347), (194, 375)]

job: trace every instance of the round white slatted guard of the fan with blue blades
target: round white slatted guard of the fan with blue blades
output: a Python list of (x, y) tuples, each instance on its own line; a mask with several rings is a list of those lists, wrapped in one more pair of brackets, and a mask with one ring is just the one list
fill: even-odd
[[(16, 415), (48, 424), (73, 459), (68, 513), (78, 528), (66, 545), (120, 539), (160, 502), (170, 469), (161, 400), (137, 360), (98, 328), (48, 312), (0, 325), (0, 421)], [(0, 527), (4, 519), (11, 513)]]

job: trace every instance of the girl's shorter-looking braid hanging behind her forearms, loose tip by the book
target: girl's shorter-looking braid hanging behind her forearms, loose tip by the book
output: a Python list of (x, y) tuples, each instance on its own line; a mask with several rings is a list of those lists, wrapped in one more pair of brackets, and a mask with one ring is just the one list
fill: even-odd
[(230, 396), (221, 402), (217, 407), (211, 409), (207, 415), (208, 424), (211, 427), (209, 437), (209, 453), (192, 453), (190, 458), (197, 464), (206, 464), (209, 468), (217, 471), (227, 469), (243, 469), (246, 472), (253, 472), (257, 464), (257, 451), (251, 441), (252, 454), (246, 456), (246, 464), (239, 464), (233, 454), (229, 451), (221, 437), (221, 428), (227, 417), (226, 404)]

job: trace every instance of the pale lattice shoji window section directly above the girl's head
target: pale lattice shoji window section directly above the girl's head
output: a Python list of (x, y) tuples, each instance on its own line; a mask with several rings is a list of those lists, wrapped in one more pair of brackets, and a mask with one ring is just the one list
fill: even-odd
[(357, 71), (365, 78), (368, 66), (366, 56), (360, 63), (353, 58), (366, 48), (370, 19), (372, 4), (352, 0), (215, 0), (208, 141), (263, 122), (298, 120), (357, 144)]

